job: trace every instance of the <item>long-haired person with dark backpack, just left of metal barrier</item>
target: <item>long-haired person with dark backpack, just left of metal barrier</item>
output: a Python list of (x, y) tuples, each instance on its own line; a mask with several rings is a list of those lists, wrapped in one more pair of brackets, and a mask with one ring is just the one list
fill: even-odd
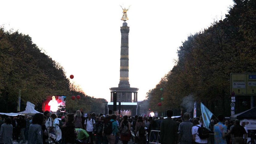
[(146, 142), (146, 130), (145, 130), (145, 123), (143, 122), (142, 116), (138, 117), (138, 121), (136, 122), (135, 125), (135, 142), (137, 144), (144, 144)]

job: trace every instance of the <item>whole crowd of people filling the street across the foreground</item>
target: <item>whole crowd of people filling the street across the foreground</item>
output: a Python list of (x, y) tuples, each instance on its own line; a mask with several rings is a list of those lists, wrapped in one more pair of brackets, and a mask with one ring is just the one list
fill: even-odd
[[(240, 121), (224, 121), (224, 116), (212, 119), (209, 137), (199, 132), (204, 127), (201, 117), (190, 118), (184, 113), (182, 118), (171, 118), (172, 110), (167, 110), (167, 118), (152, 116), (105, 116), (77, 110), (65, 116), (57, 116), (48, 111), (33, 117), (24, 115), (0, 116), (0, 143), (12, 144), (12, 140), (28, 144), (117, 144), (129, 141), (138, 144), (148, 142), (162, 144), (243, 144), (247, 140), (247, 129)], [(109, 129), (110, 130), (109, 130)], [(151, 133), (150, 133), (151, 132)]]

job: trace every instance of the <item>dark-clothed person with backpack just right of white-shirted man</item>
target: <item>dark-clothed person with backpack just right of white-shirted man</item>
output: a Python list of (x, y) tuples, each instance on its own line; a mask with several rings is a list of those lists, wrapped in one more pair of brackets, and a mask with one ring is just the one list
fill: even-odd
[(96, 134), (96, 144), (101, 144), (103, 141), (103, 126), (104, 126), (104, 116), (101, 116), (99, 121), (95, 124), (95, 131), (94, 133)]

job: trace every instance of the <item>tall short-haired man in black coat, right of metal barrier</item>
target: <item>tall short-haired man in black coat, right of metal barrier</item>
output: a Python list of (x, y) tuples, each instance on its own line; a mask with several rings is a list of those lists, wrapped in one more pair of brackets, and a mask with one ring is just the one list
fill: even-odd
[(167, 118), (161, 122), (160, 126), (160, 142), (161, 144), (175, 144), (178, 139), (178, 128), (176, 121), (173, 121), (171, 116), (173, 111), (166, 111)]

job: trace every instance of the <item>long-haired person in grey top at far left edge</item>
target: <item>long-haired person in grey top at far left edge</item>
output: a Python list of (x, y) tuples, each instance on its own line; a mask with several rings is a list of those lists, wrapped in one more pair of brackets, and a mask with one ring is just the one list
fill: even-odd
[(12, 144), (12, 124), (11, 118), (7, 118), (5, 123), (1, 125), (0, 143)]

